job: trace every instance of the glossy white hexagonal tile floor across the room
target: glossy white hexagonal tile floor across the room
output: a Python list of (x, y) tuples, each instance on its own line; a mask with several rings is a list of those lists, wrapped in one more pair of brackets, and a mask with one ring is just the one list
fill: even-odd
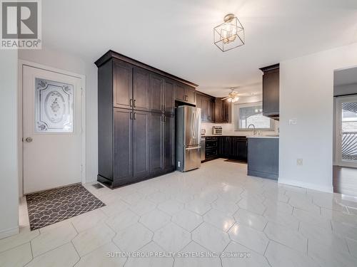
[(357, 198), (247, 177), (245, 164), (85, 187), (106, 206), (35, 231), (23, 201), (0, 266), (357, 266)]

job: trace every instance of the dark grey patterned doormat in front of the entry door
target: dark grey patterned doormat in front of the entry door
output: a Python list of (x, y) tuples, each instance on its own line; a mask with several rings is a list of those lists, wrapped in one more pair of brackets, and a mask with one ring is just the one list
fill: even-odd
[(81, 184), (28, 194), (26, 201), (31, 230), (105, 206)]

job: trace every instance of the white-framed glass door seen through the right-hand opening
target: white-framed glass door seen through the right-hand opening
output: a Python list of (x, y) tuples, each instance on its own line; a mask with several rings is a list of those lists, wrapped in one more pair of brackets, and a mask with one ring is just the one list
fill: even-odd
[(357, 167), (357, 95), (336, 98), (336, 164)]

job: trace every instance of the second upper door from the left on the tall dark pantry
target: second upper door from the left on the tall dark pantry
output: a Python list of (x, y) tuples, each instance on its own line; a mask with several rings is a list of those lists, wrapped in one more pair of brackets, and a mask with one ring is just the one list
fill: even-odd
[(134, 85), (133, 85), (133, 107), (136, 110), (150, 110), (150, 86), (149, 72), (141, 68), (134, 68)]

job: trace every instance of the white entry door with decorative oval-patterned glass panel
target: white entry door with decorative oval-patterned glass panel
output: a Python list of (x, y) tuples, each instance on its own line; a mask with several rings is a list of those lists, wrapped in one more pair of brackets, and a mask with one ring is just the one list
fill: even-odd
[(23, 66), (24, 194), (81, 182), (81, 79)]

